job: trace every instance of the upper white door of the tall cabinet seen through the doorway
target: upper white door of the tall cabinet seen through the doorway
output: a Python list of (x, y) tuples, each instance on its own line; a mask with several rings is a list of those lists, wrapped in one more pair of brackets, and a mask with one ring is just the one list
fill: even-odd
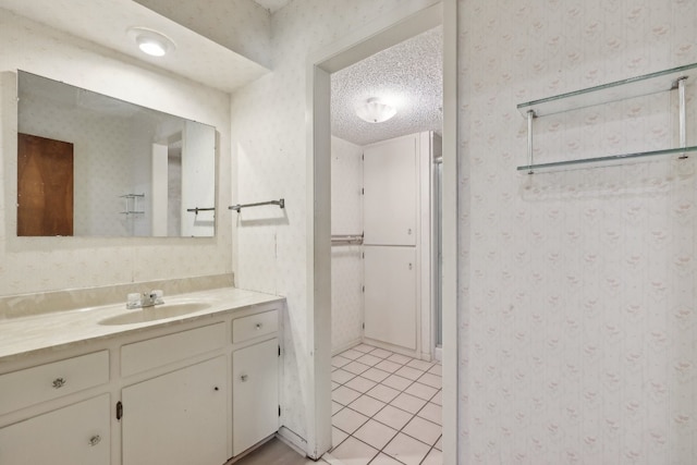
[(364, 151), (364, 244), (416, 245), (417, 136)]

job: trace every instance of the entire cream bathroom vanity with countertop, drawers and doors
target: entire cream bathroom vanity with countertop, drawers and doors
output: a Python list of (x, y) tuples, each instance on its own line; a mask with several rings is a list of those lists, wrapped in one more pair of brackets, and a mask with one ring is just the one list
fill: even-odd
[(0, 463), (240, 455), (279, 428), (283, 307), (228, 287), (166, 296), (162, 308), (0, 319)]

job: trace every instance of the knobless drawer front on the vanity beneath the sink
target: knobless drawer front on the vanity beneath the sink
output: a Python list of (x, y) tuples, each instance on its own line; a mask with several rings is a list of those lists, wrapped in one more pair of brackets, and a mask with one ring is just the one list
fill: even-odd
[(184, 360), (224, 344), (223, 322), (127, 344), (121, 347), (121, 375), (131, 376)]

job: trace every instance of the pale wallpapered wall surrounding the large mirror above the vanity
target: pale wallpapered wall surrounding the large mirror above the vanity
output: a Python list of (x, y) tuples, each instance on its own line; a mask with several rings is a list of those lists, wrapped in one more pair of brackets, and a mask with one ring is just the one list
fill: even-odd
[[(215, 125), (217, 182), (225, 186), (218, 205), (230, 205), (228, 95), (5, 11), (0, 42), (0, 72), (21, 69)], [(12, 79), (3, 75), (0, 97), (0, 295), (231, 272), (227, 210), (210, 240), (16, 237), (16, 101), (4, 91), (14, 88)]]

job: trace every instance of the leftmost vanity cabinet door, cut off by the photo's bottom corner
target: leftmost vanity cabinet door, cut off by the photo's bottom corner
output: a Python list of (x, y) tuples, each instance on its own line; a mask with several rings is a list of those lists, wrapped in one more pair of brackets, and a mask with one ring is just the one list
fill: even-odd
[(0, 464), (108, 465), (109, 394), (0, 429)]

